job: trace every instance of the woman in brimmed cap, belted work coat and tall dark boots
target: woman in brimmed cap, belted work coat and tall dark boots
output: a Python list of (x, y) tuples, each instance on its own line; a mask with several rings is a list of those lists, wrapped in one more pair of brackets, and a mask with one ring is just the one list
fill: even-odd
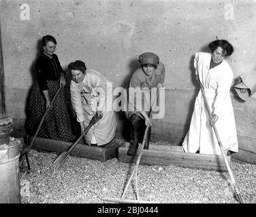
[[(151, 99), (143, 97), (142, 93), (150, 93), (153, 87), (163, 87), (165, 79), (165, 66), (162, 62), (159, 62), (159, 57), (156, 54), (152, 52), (141, 54), (139, 62), (141, 66), (133, 73), (129, 83), (129, 106), (132, 108), (132, 111), (126, 112), (127, 118), (131, 122), (131, 145), (127, 155), (135, 155), (138, 149), (140, 134), (144, 134), (146, 125), (150, 123), (148, 113), (150, 111), (150, 100), (152, 103), (153, 97), (151, 98), (150, 95)], [(131, 88), (134, 88), (135, 94), (130, 91)], [(138, 96), (142, 96), (142, 98), (138, 98)], [(150, 130), (149, 128), (144, 149), (148, 149)]]

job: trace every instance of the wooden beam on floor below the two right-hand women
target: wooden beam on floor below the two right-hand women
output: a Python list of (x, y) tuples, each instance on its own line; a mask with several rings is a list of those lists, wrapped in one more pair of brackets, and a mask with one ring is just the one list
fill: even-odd
[[(128, 144), (118, 148), (118, 160), (124, 163), (135, 163), (138, 156), (127, 155)], [(137, 154), (140, 153), (140, 146)], [(231, 157), (227, 156), (231, 161)], [(141, 164), (146, 165), (178, 165), (182, 167), (194, 167), (227, 172), (227, 167), (222, 155), (206, 155), (197, 153), (184, 153), (182, 146), (167, 146), (150, 144), (148, 150), (144, 150)]]

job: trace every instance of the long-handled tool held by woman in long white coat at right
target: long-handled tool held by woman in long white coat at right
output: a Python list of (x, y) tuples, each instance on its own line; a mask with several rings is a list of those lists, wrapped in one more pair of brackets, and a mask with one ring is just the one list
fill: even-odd
[[(205, 104), (206, 104), (206, 109), (207, 109), (207, 111), (208, 111), (208, 115), (209, 115), (210, 119), (212, 119), (212, 115), (211, 115), (211, 113), (210, 113), (210, 107), (209, 107), (209, 104), (208, 104), (207, 99), (206, 99), (206, 93), (204, 92), (204, 86), (202, 85), (202, 83), (201, 83), (200, 81), (199, 81), (199, 83), (200, 83), (200, 87), (201, 87), (202, 94), (203, 94), (203, 97), (204, 97), (204, 102), (205, 102)], [(221, 154), (222, 154), (222, 156), (223, 156), (223, 159), (224, 159), (225, 164), (226, 164), (226, 166), (227, 166), (227, 171), (229, 172), (229, 176), (230, 176), (230, 178), (231, 178), (231, 186), (233, 187), (234, 192), (235, 192), (236, 196), (238, 197), (238, 201), (239, 201), (240, 203), (242, 203), (242, 197), (241, 197), (241, 195), (240, 195), (240, 191), (239, 191), (239, 189), (238, 189), (238, 186), (236, 185), (235, 178), (234, 178), (234, 176), (233, 176), (233, 173), (232, 173), (231, 168), (230, 168), (230, 166), (229, 166), (229, 163), (228, 163), (228, 161), (227, 161), (227, 156), (225, 155), (225, 151), (224, 151), (224, 149), (223, 149), (223, 145), (222, 145), (222, 143), (221, 143), (221, 139), (220, 139), (220, 137), (219, 137), (219, 133), (218, 133), (218, 131), (217, 131), (217, 128), (216, 128), (215, 124), (212, 125), (212, 128), (213, 128), (214, 133), (215, 133), (215, 135), (216, 135), (216, 137), (217, 137), (217, 140), (218, 140), (218, 143), (219, 143), (219, 147), (221, 148)]]

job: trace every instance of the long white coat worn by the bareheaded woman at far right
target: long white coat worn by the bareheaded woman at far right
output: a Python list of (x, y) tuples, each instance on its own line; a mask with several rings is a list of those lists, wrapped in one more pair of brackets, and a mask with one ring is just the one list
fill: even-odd
[[(196, 53), (195, 74), (199, 75), (204, 86), (211, 114), (219, 117), (215, 126), (225, 152), (228, 150), (238, 152), (236, 122), (229, 95), (233, 72), (226, 60), (210, 69), (211, 58), (212, 54), (210, 53)], [(201, 90), (195, 99), (189, 132), (187, 132), (182, 146), (188, 153), (195, 153), (199, 150), (199, 153), (203, 154), (221, 155), (217, 137), (210, 126), (210, 118)]]

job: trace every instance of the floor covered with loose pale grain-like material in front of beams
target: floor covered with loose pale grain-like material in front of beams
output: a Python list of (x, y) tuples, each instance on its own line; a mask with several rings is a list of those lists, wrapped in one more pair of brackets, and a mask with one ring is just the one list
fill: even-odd
[[(166, 142), (165, 142), (166, 143)], [(20, 172), (22, 203), (109, 203), (121, 199), (134, 165), (118, 159), (106, 162), (69, 156), (54, 172), (58, 155), (29, 152), (31, 172)], [(244, 203), (256, 203), (256, 165), (231, 161), (231, 170)], [(227, 172), (176, 165), (139, 165), (140, 200), (158, 203), (238, 203)], [(125, 199), (136, 199), (131, 181)]]

